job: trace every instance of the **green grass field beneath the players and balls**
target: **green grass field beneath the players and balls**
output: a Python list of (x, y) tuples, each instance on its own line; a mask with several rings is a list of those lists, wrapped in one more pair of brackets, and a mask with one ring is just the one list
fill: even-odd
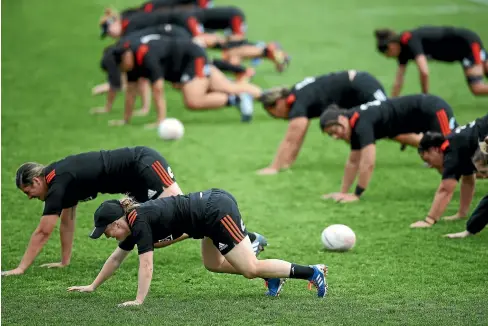
[[(447, 0), (449, 1), (449, 0)], [(397, 2), (323, 0), (216, 0), (233, 3), (247, 14), (249, 39), (278, 40), (293, 56), (282, 75), (264, 62), (255, 82), (262, 87), (291, 84), (308, 75), (341, 69), (366, 70), (390, 90), (395, 62), (376, 53), (373, 29), (451, 24), (476, 30), (488, 45), (488, 6), (452, 0)], [(136, 5), (129, 0), (3, 1), (2, 3), (2, 270), (19, 263), (42, 213), (15, 188), (16, 168), (25, 161), (49, 163), (69, 154), (101, 148), (147, 145), (170, 162), (185, 192), (221, 187), (239, 201), (249, 229), (267, 236), (263, 258), (329, 266), (330, 292), (318, 300), (306, 282), (289, 281), (277, 299), (264, 296), (261, 280), (207, 272), (199, 242), (185, 241), (155, 254), (154, 277), (146, 302), (137, 290), (137, 254), (95, 293), (67, 293), (89, 284), (115, 240), (92, 241), (93, 212), (109, 198), (82, 203), (71, 265), (47, 270), (42, 263), (60, 259), (58, 230), (34, 265), (22, 276), (2, 278), (2, 322), (12, 325), (487, 325), (488, 232), (465, 240), (441, 235), (464, 229), (465, 222), (441, 222), (429, 230), (409, 224), (427, 213), (440, 181), (422, 168), (412, 149), (378, 145), (373, 181), (360, 203), (339, 205), (320, 195), (338, 191), (348, 147), (319, 132), (312, 123), (291, 171), (255, 174), (270, 163), (286, 130), (260, 107), (251, 125), (239, 122), (234, 108), (191, 112), (180, 94), (167, 87), (169, 116), (181, 119), (184, 139), (163, 142), (144, 130), (150, 117), (127, 127), (108, 127), (122, 116), (119, 96), (108, 116), (88, 114), (103, 105), (91, 97), (102, 82), (98, 19), (103, 8)], [(488, 100), (473, 97), (459, 65), (431, 63), (431, 92), (444, 97), (460, 123), (486, 114)], [(416, 69), (407, 73), (403, 94), (419, 91)], [(479, 182), (474, 205), (487, 193)], [(446, 214), (459, 204), (459, 191)], [(320, 233), (333, 223), (349, 225), (358, 238), (351, 252), (322, 249)]]

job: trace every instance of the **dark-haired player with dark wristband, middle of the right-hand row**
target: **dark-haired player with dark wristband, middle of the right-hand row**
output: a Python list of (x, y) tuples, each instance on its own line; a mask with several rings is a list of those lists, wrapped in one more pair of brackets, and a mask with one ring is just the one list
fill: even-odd
[[(341, 191), (324, 199), (352, 202), (368, 187), (376, 161), (376, 141), (392, 138), (418, 147), (427, 131), (447, 135), (456, 126), (449, 104), (434, 95), (408, 95), (374, 101), (345, 110), (331, 108), (322, 113), (320, 129), (335, 139), (350, 143), (351, 153), (344, 166)], [(356, 176), (354, 193), (349, 193)]]

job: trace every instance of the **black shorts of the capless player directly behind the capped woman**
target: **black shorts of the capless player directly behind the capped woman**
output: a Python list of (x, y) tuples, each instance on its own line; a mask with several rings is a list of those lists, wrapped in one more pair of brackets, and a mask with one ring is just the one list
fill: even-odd
[(129, 195), (143, 203), (158, 198), (164, 188), (176, 182), (176, 178), (168, 162), (152, 148), (141, 146), (136, 152), (136, 173), (141, 183), (134, 185), (135, 189)]

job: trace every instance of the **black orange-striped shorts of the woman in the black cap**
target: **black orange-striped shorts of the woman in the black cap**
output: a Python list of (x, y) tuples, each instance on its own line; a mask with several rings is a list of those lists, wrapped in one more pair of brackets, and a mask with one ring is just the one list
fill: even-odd
[(248, 234), (236, 199), (225, 190), (212, 189), (207, 200), (205, 220), (205, 236), (212, 239), (222, 255), (231, 251)]

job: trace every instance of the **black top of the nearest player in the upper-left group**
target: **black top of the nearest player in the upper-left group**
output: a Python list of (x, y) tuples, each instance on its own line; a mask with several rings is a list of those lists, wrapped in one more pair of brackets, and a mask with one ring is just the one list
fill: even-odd
[(164, 78), (173, 83), (182, 82), (182, 74), (191, 62), (203, 69), (205, 51), (190, 40), (161, 37), (147, 43), (126, 42), (124, 47), (134, 53), (134, 67), (127, 73), (127, 80), (135, 82), (147, 78), (151, 83)]

